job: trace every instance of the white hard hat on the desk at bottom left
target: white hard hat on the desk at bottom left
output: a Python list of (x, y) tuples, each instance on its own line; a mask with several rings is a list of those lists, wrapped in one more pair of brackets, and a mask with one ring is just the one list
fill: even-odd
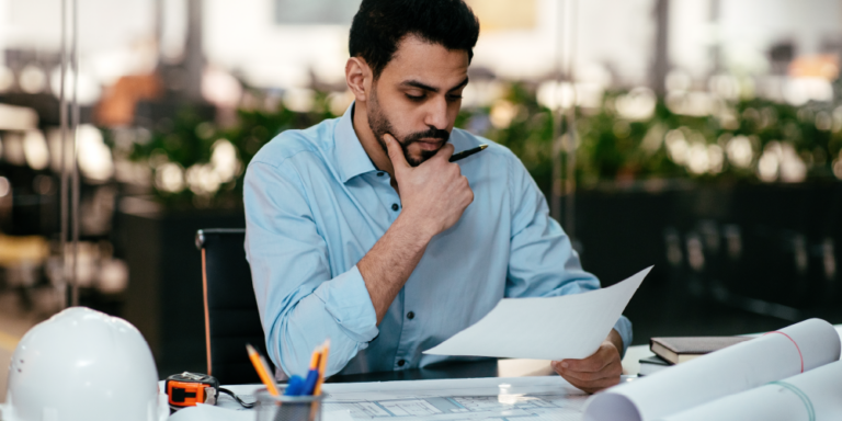
[(2, 410), (3, 421), (161, 421), (170, 413), (140, 332), (84, 307), (26, 332), (12, 355)]

